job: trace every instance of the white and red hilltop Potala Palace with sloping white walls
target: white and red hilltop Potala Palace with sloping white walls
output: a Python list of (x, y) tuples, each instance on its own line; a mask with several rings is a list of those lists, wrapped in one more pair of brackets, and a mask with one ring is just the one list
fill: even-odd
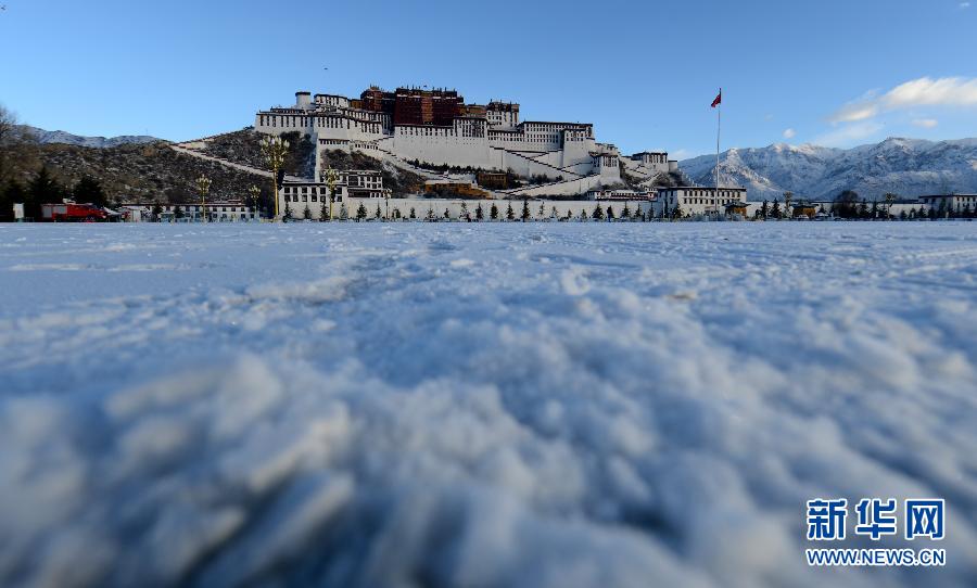
[(326, 150), (358, 151), (402, 166), (420, 162), (553, 180), (503, 190), (502, 197), (584, 194), (620, 184), (622, 167), (640, 181), (677, 169), (664, 152), (622, 157), (613, 144), (597, 141), (593, 124), (523, 122), (519, 104), (466, 104), (455, 90), (371, 87), (358, 99), (300, 91), (293, 106), (258, 112), (255, 130), (312, 137), (317, 182)]

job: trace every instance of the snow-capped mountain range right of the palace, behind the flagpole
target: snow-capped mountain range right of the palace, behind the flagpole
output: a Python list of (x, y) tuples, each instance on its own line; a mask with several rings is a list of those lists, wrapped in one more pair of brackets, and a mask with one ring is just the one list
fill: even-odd
[[(694, 182), (712, 186), (714, 155), (680, 163)], [(924, 141), (886, 139), (850, 150), (776, 143), (731, 149), (722, 154), (720, 183), (747, 188), (749, 200), (773, 200), (790, 191), (799, 197), (833, 200), (842, 190), (878, 200), (977, 192), (977, 139)]]

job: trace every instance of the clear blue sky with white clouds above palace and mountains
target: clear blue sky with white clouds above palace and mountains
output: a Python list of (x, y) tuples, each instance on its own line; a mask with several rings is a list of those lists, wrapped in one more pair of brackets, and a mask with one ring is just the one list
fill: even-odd
[[(0, 0), (0, 103), (78, 135), (239, 129), (294, 92), (446, 86), (625, 152), (977, 137), (977, 1)], [(329, 67), (328, 71), (323, 67)]]

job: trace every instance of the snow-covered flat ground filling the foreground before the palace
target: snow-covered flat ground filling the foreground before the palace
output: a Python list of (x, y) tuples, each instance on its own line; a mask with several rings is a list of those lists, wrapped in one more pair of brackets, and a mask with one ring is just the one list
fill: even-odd
[(977, 223), (7, 225), (0, 296), (3, 586), (977, 581)]

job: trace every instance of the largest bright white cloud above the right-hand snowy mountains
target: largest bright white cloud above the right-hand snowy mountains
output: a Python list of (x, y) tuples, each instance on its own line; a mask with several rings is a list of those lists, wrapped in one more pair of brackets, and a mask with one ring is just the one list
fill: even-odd
[(901, 84), (881, 95), (866, 94), (828, 117), (832, 123), (857, 123), (884, 111), (914, 106), (977, 106), (977, 78), (923, 77)]

